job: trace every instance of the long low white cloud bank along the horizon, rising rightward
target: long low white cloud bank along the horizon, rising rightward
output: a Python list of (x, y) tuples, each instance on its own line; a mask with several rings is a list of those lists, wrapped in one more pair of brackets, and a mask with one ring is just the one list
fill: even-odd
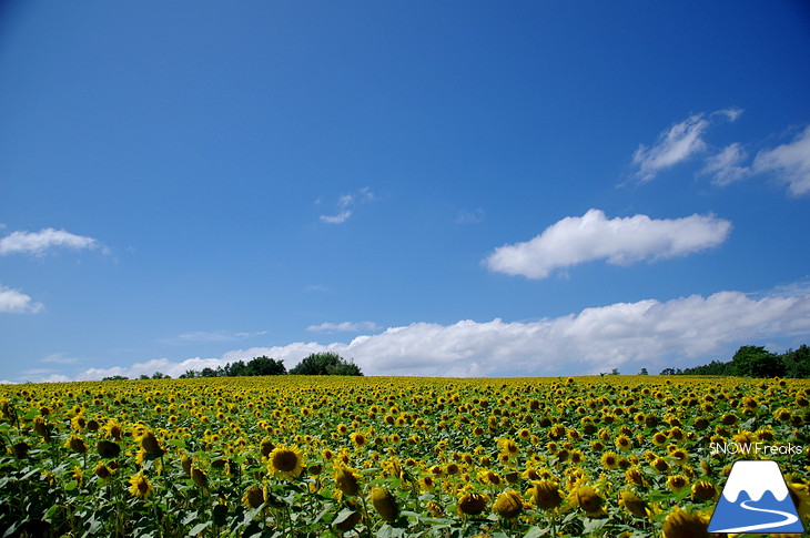
[(585, 308), (577, 314), (533, 322), (418, 322), (357, 336), (348, 343), (292, 343), (235, 349), (220, 358), (156, 359), (130, 367), (92, 368), (80, 379), (111, 375), (138, 377), (267, 355), (287, 368), (311, 353), (335, 352), (353, 358), (366, 375), (514, 376), (576, 375), (641, 366), (693, 365), (728, 359), (741, 345), (810, 333), (810, 291), (755, 297), (741, 292), (691, 295)]

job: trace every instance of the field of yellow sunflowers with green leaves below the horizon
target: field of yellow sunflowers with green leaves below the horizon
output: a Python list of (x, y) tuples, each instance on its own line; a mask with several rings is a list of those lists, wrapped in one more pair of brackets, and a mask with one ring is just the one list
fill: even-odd
[(756, 441), (784, 448), (807, 527), (809, 399), (657, 376), (1, 386), (0, 537), (709, 536), (758, 457), (712, 447)]

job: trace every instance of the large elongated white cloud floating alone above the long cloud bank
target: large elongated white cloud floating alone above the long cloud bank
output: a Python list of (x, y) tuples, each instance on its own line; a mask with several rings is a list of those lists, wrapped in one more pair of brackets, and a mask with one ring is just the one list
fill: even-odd
[(494, 272), (545, 278), (556, 268), (594, 260), (627, 265), (682, 256), (721, 244), (730, 231), (729, 221), (712, 215), (608, 220), (600, 210), (589, 210), (551, 224), (530, 241), (496, 248), (484, 264)]

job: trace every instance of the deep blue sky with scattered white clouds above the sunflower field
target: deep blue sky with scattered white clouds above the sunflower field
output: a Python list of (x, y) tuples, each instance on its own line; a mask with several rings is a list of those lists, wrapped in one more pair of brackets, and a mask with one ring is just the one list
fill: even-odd
[(0, 380), (810, 343), (803, 2), (6, 2)]

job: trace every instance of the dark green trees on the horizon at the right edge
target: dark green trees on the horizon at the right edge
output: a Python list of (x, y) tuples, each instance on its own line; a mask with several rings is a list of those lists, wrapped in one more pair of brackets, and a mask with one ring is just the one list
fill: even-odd
[(742, 346), (731, 361), (712, 361), (692, 368), (665, 368), (661, 375), (715, 375), (738, 377), (810, 378), (810, 347), (802, 344), (778, 355), (763, 346)]

